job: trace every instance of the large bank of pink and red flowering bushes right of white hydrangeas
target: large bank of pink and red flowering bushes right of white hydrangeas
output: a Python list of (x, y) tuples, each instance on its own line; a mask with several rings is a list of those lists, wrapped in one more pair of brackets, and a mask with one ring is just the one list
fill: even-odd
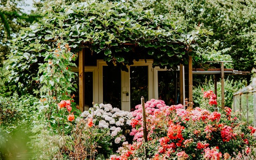
[[(214, 100), (212, 92), (205, 92), (207, 97)], [(207, 109), (185, 109), (186, 106), (181, 104), (166, 106), (163, 100), (147, 101), (148, 158), (217, 160), (231, 159), (241, 155), (242, 150), (252, 154), (255, 128), (241, 124), (239, 114), (228, 107), (213, 111), (214, 105), (208, 105)], [(144, 157), (142, 106), (137, 105), (132, 115), (130, 134), (134, 136), (134, 142), (124, 143), (111, 160)]]

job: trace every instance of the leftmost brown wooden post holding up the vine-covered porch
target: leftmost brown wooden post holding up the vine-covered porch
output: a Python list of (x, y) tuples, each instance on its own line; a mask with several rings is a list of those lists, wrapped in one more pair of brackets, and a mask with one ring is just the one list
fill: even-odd
[(84, 111), (84, 53), (83, 49), (78, 52), (79, 59), (79, 109)]

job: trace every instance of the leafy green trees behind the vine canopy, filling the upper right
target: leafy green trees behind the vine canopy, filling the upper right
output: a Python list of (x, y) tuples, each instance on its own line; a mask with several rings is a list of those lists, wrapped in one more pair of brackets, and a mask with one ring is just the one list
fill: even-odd
[(155, 14), (180, 17), (187, 30), (204, 23), (214, 32), (212, 40), (205, 42), (204, 46), (220, 41), (218, 49), (225, 49), (223, 54), (231, 55), (235, 69), (251, 71), (255, 66), (255, 0), (143, 0), (131, 3), (153, 9)]

